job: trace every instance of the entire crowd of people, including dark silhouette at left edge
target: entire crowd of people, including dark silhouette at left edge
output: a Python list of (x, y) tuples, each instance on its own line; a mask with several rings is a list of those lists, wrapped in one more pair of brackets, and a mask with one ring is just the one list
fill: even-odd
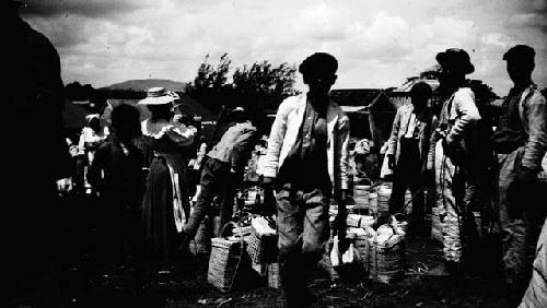
[[(335, 233), (344, 238), (352, 179), (375, 178), (379, 171), (377, 161), (356, 159), (366, 166), (358, 174), (350, 168), (350, 121), (328, 95), (337, 79), (335, 57), (316, 52), (300, 64), (309, 91), (280, 104), (267, 138), (237, 107), (231, 110), (229, 125), (219, 129), (219, 140), (202, 144), (197, 128), (183, 120), (179, 97), (153, 87), (139, 102), (150, 110), (149, 119), (140, 121), (136, 107), (120, 105), (112, 111), (107, 132), (96, 117), (90, 117), (79, 144), (72, 145), (65, 140), (60, 120), (63, 96), (57, 51), (19, 17), (16, 4), (8, 9), (13, 25), (9, 34), (13, 61), (8, 63), (13, 91), (8, 104), (12, 116), (7, 121), (20, 129), (8, 135), (8, 143), (18, 149), (8, 164), (8, 191), (13, 197), (8, 200), (19, 203), (8, 209), (5, 226), (18, 236), (7, 244), (10, 262), (25, 264), (5, 275), (13, 285), (11, 300), (25, 292), (40, 303), (59, 300), (55, 245), (50, 247), (55, 232), (48, 225), (55, 217), (39, 204), (56, 202), (56, 181), (60, 189), (70, 188), (72, 154), (85, 157), (85, 168), (74, 178), (108, 209), (101, 230), (105, 258), (112, 262), (126, 258), (121, 248), (127, 245), (137, 281), (168, 270), (174, 259), (189, 258), (189, 241), (212, 203), (219, 206), (221, 225), (230, 222), (235, 191), (246, 179), (276, 198), (287, 306), (312, 303), (306, 280), (329, 239), (331, 200), (338, 204)], [(389, 212), (400, 212), (410, 189), (409, 234), (423, 235), (429, 229), (426, 190), (434, 192), (434, 206), (441, 210), (445, 263), (431, 274), (480, 266), (473, 212), (488, 213), (491, 232), (503, 239), (503, 256), (488, 261), (500, 261), (507, 283), (515, 291), (522, 287), (521, 307), (547, 306), (547, 206), (542, 198), (547, 180), (547, 111), (545, 95), (532, 81), (534, 57), (534, 49), (524, 45), (503, 55), (514, 86), (493, 122), (490, 106), (476, 99), (466, 80), (475, 71), (468, 54), (457, 48), (439, 52), (440, 104), (431, 104), (427, 83), (414, 85), (411, 104), (397, 110), (385, 145), (385, 159), (393, 170)], [(32, 125), (20, 125), (21, 119)], [(26, 137), (37, 128), (44, 138), (30, 144)], [(36, 159), (34, 149), (47, 149), (49, 163)], [(363, 154), (371, 149), (363, 142), (352, 151)], [(198, 180), (191, 179), (195, 170)], [(21, 185), (30, 176), (32, 196)], [(40, 260), (33, 258), (36, 251)]]

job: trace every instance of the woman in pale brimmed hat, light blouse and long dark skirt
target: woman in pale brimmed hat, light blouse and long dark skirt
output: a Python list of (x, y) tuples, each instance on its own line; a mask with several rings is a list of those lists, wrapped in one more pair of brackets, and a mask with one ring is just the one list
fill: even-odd
[(196, 128), (173, 121), (177, 99), (163, 87), (148, 91), (139, 102), (152, 114), (141, 122), (143, 147), (149, 156), (147, 189), (142, 200), (146, 244), (151, 261), (168, 265), (178, 234), (189, 216), (187, 188), (184, 185), (188, 162), (184, 149), (191, 146)]

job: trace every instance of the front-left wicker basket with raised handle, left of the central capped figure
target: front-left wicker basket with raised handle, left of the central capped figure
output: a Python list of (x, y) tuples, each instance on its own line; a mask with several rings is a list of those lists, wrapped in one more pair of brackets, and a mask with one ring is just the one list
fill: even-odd
[[(228, 226), (240, 227), (235, 223), (228, 223), (222, 228), (222, 235)], [(236, 239), (216, 237), (211, 239), (211, 257), (207, 281), (221, 292), (230, 292), (245, 251), (245, 241), (242, 236)]]

